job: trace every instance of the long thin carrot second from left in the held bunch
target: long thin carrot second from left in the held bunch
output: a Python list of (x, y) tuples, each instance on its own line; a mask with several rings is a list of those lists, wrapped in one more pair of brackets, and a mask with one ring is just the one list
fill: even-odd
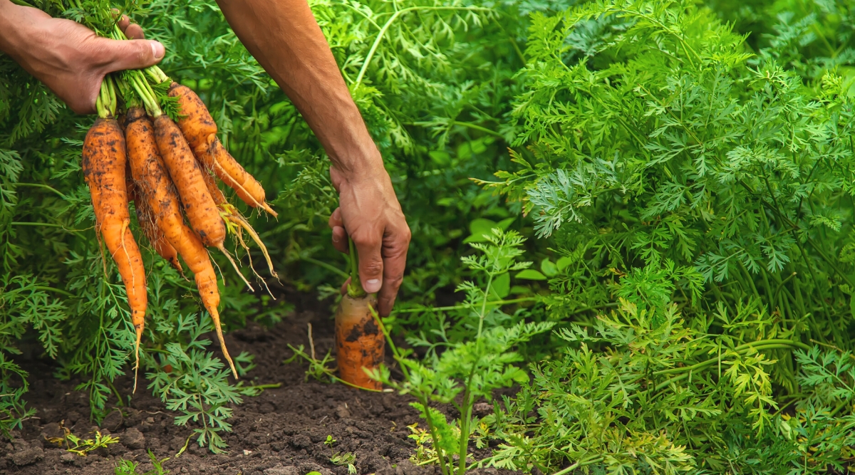
[(199, 297), (214, 322), (222, 353), (234, 377), (238, 378), (238, 372), (222, 337), (220, 314), (217, 311), (220, 305), (220, 290), (217, 289), (216, 274), (208, 250), (181, 216), (179, 198), (158, 152), (155, 127), (141, 108), (131, 108), (127, 117), (127, 142), (133, 177), (139, 188), (145, 190), (146, 201), (151, 208), (156, 227), (163, 232), (168, 243), (178, 251), (193, 273)]

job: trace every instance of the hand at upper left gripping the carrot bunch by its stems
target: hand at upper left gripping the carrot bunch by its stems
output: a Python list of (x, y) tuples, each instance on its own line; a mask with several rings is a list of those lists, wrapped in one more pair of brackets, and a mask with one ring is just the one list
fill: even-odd
[(0, 50), (78, 114), (95, 112), (107, 73), (149, 67), (163, 58), (163, 45), (145, 40), (139, 25), (123, 16), (119, 26), (130, 41), (101, 38), (80, 23), (0, 0)]

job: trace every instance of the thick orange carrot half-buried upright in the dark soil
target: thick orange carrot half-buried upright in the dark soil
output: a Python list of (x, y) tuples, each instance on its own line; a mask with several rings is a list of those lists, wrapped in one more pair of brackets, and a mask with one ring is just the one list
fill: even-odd
[(369, 378), (363, 367), (376, 368), (383, 362), (386, 344), (383, 331), (374, 321), (370, 308), (376, 308), (377, 297), (345, 295), (335, 311), (335, 341), (339, 377), (345, 382), (380, 390), (382, 384)]

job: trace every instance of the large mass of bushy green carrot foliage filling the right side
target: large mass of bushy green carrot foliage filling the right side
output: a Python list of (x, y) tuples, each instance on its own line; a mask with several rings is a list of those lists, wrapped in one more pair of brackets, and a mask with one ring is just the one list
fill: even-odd
[(485, 464), (845, 470), (852, 103), (799, 55), (848, 16), (816, 18), (781, 16), (755, 55), (695, 3), (532, 15), (518, 167), (480, 183), (555, 244), (545, 302), (577, 323), (488, 420), (502, 445)]

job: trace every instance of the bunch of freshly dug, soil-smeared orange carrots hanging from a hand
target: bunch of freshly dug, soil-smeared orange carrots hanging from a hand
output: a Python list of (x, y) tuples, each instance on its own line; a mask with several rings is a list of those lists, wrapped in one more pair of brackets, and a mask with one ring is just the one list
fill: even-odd
[[(118, 26), (112, 35), (126, 39)], [(97, 114), (83, 144), (83, 173), (91, 192), (97, 235), (109, 249), (127, 290), (136, 331), (135, 369), (139, 367), (148, 300), (142, 257), (129, 226), (131, 201), (156, 253), (183, 273), (180, 256), (193, 273), (223, 355), (237, 378), (222, 337), (217, 310), (220, 293), (206, 248), (226, 255), (252, 289), (224, 246), (231, 233), (248, 249), (243, 237), (246, 232), (262, 249), (270, 273), (276, 277), (260, 237), (227, 202), (218, 183), (233, 188), (252, 208), (275, 217), (265, 202), (262, 185), (223, 147), (215, 121), (196, 93), (174, 83), (159, 67), (109, 74), (97, 98)]]

